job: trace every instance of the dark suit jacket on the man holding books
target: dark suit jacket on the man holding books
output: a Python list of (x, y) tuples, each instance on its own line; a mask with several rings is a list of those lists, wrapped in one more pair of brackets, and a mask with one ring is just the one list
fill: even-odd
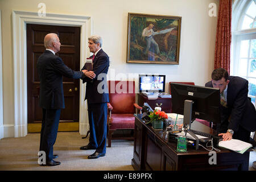
[[(86, 65), (82, 68), (86, 69)], [(109, 70), (109, 56), (102, 50), (98, 51), (93, 60), (93, 72), (96, 77), (92, 79), (88, 77), (82, 78), (82, 83), (86, 82), (85, 100), (88, 104), (109, 102), (108, 85), (106, 75)], [(98, 90), (98, 87), (100, 90)], [(99, 92), (100, 91), (100, 92)]]

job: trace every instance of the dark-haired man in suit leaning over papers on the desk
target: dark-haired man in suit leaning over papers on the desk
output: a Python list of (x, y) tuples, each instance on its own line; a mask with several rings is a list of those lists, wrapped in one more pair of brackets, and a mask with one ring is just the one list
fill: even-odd
[(249, 142), (256, 130), (256, 111), (247, 97), (248, 81), (229, 76), (223, 68), (214, 69), (212, 81), (205, 86), (219, 88), (221, 93), (221, 123), (217, 124), (223, 140), (240, 139)]

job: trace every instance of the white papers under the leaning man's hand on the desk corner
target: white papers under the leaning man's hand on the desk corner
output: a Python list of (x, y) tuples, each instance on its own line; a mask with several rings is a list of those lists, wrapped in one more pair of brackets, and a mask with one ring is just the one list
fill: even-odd
[(228, 148), (240, 154), (243, 154), (246, 150), (251, 148), (253, 145), (247, 142), (243, 142), (237, 139), (231, 139), (226, 141), (221, 141), (218, 143), (218, 146)]

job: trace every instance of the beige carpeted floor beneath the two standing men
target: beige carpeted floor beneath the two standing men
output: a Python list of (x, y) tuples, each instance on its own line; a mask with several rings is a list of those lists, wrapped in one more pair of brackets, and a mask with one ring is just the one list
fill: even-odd
[[(88, 138), (81, 139), (78, 132), (59, 132), (54, 145), (54, 153), (59, 155), (56, 161), (59, 166), (47, 167), (38, 165), (40, 134), (28, 134), (21, 138), (3, 138), (0, 140), (0, 170), (2, 171), (133, 171), (133, 141), (112, 140), (112, 147), (106, 148), (106, 156), (98, 159), (87, 159), (94, 150), (80, 150), (88, 144)], [(250, 152), (249, 171), (256, 160), (256, 150)]]

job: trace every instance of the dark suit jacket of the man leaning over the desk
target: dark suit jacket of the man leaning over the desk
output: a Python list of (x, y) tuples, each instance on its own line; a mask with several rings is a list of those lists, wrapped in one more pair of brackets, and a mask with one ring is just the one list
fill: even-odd
[[(226, 133), (227, 129), (237, 131), (239, 126), (251, 132), (255, 131), (256, 111), (247, 97), (248, 81), (237, 76), (229, 76), (228, 80), (227, 107), (221, 106), (220, 132)], [(205, 86), (213, 87), (212, 81)]]

